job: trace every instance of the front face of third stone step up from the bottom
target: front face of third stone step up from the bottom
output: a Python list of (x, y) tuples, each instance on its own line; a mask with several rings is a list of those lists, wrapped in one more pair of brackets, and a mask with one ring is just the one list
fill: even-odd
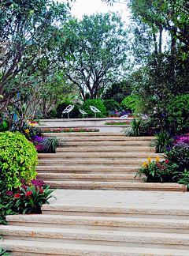
[[(127, 224), (122, 223), (119, 226), (117, 224), (113, 225), (113, 222), (109, 222), (108, 224), (100, 225), (98, 221), (95, 223), (91, 221), (90, 224), (85, 224), (82, 222), (78, 224), (78, 221), (72, 220), (71, 224), (52, 224), (52, 223), (30, 223), (30, 222), (11, 222), (8, 221), (9, 225), (17, 225), (17, 226), (26, 226), (26, 227), (42, 227), (42, 228), (76, 228), (76, 229), (89, 229), (89, 230), (110, 230), (110, 231), (123, 231), (123, 232), (161, 232), (161, 233), (177, 233), (177, 234), (189, 234), (189, 227), (183, 228), (164, 228), (161, 225), (161, 228), (146, 228), (145, 223), (143, 224), (132, 224), (132, 222), (128, 222)], [(158, 226), (158, 225), (155, 225)]]

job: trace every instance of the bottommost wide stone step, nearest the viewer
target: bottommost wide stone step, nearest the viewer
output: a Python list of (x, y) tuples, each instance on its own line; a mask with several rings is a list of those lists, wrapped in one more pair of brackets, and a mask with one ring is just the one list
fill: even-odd
[(12, 250), (15, 256), (188, 256), (188, 250), (144, 247), (117, 247), (73, 243), (44, 243), (6, 239), (0, 242), (3, 250)]

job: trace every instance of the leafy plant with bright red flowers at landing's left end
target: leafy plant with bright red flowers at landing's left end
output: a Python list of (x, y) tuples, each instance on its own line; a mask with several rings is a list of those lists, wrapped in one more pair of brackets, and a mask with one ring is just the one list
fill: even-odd
[(49, 189), (50, 186), (46, 186), (44, 189), (35, 188), (35, 186), (27, 187), (24, 190), (21, 187), (21, 192), (15, 195), (15, 206), (17, 207), (20, 213), (41, 213), (41, 206), (43, 204), (49, 204), (48, 200), (50, 198), (55, 198), (51, 193), (54, 190)]

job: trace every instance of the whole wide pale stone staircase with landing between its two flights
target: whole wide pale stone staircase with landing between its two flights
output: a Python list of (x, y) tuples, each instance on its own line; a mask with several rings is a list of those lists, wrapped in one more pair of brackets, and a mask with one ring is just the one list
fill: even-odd
[(152, 137), (56, 136), (57, 153), (39, 154), (37, 171), (61, 188), (57, 201), (41, 215), (7, 216), (0, 247), (20, 256), (189, 255), (187, 186), (134, 178), (147, 157), (158, 156), (148, 147)]

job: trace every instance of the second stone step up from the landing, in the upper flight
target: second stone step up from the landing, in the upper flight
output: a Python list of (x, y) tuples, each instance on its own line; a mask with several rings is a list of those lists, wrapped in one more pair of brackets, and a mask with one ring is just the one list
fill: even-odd
[(119, 181), (119, 182), (141, 182), (139, 178), (135, 178), (135, 175), (124, 174), (59, 174), (59, 173), (39, 173), (38, 179), (44, 181)]

